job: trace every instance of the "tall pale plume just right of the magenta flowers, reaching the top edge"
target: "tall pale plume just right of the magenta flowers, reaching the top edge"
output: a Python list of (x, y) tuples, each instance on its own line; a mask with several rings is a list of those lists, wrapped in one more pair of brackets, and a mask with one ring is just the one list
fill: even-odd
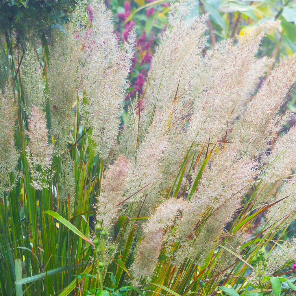
[(139, 136), (132, 133), (138, 128), (137, 120), (132, 120), (133, 124), (125, 128), (122, 138), (131, 139), (133, 134), (132, 142), (141, 143), (155, 112), (168, 108), (173, 102), (176, 112), (183, 102), (186, 102), (186, 93), (191, 88), (192, 75), (206, 41), (202, 35), (205, 32), (207, 16), (197, 20), (185, 20), (184, 12), (188, 12), (191, 2), (182, 1), (182, 4), (171, 7), (169, 26), (153, 56), (144, 98), (140, 98), (142, 112)]

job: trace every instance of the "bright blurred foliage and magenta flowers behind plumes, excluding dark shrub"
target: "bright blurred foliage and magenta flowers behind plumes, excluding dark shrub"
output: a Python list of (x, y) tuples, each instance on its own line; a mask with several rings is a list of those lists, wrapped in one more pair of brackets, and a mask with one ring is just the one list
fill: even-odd
[[(106, 0), (106, 3), (114, 12), (119, 37), (122, 38), (126, 30), (135, 28), (140, 40), (137, 43), (135, 62), (130, 77), (130, 93), (126, 97), (128, 105), (129, 99), (133, 99), (137, 91), (139, 94), (143, 92), (142, 76), (147, 74), (150, 62), (150, 58), (147, 57), (150, 57), (149, 52), (153, 52), (157, 38), (167, 25), (169, 1)], [(258, 22), (280, 20), (281, 24), (278, 29), (268, 32), (264, 38), (258, 57), (268, 55), (277, 61), (280, 56), (292, 55), (296, 52), (296, 1), (200, 0), (196, 1), (193, 9), (193, 15), (196, 16), (204, 13), (210, 14), (207, 22), (207, 34), (209, 35), (207, 46), (213, 46), (223, 39), (234, 38), (236, 34), (243, 34), (256, 26)], [(122, 17), (124, 14), (125, 18)], [(148, 42), (149, 46), (144, 46), (141, 42), (143, 34), (146, 45)], [(293, 109), (295, 106), (296, 96), (293, 90), (283, 109)]]

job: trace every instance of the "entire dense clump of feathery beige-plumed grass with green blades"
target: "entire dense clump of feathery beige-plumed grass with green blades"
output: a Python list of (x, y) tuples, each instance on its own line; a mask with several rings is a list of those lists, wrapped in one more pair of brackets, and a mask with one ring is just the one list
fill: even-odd
[(50, 48), (27, 44), (19, 59), (6, 47), (3, 295), (296, 291), (296, 241), (281, 240), (295, 218), (296, 128), (279, 136), (296, 55), (256, 57), (279, 22), (206, 49), (208, 16), (188, 17), (192, 2), (172, 4), (124, 116), (135, 33), (118, 44), (103, 2), (79, 2)]

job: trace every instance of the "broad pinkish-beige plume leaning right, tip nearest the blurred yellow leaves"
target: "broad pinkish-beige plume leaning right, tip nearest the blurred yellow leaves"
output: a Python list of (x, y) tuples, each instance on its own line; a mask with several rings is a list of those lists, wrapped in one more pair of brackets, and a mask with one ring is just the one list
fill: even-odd
[[(227, 58), (223, 56), (223, 64), (215, 68), (215, 71), (209, 71), (213, 77), (208, 78), (207, 89), (201, 93), (200, 89), (192, 91), (192, 100), (196, 105), (188, 129), (191, 141), (203, 143), (209, 136), (218, 141), (225, 133), (226, 126), (240, 114), (242, 104), (271, 62), (266, 58), (257, 60), (254, 56), (264, 36), (264, 28), (268, 25), (276, 26), (277, 22), (266, 22), (240, 37), (238, 45), (227, 50)], [(225, 47), (229, 44), (226, 42)], [(221, 49), (225, 50), (225, 47)], [(214, 59), (212, 65), (215, 54), (210, 53), (210, 58), (206, 56), (206, 63), (209, 63), (208, 59)]]

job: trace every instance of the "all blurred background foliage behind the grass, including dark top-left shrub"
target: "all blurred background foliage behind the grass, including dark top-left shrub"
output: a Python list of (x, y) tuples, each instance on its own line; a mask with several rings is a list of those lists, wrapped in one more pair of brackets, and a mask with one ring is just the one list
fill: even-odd
[[(136, 53), (131, 69), (131, 86), (126, 106), (136, 94), (143, 93), (151, 54), (157, 39), (167, 25), (169, 0), (105, 0), (114, 13), (115, 31), (124, 41), (131, 30), (136, 30)], [(0, 31), (10, 37), (12, 46), (25, 46), (28, 38), (39, 38), (50, 44), (51, 29), (62, 28), (75, 7), (75, 0), (0, 0)], [(275, 59), (296, 52), (296, 1), (294, 0), (198, 0), (193, 15), (209, 13), (207, 46), (233, 38), (251, 30), (258, 22), (280, 20), (276, 31), (264, 38), (258, 56)], [(267, 73), (268, 74), (268, 73)], [(293, 96), (295, 97), (295, 96)], [(288, 108), (295, 105), (289, 100)]]

